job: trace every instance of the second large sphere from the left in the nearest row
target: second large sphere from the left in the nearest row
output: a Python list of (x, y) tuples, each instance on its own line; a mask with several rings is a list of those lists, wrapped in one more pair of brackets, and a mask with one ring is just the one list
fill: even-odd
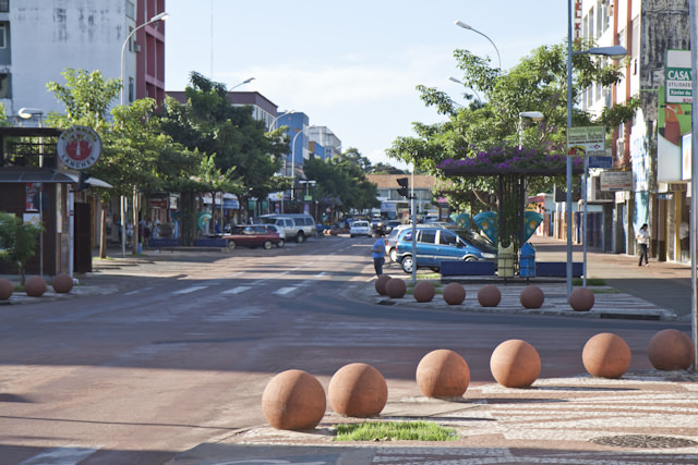
[(329, 380), (329, 405), (349, 417), (370, 417), (383, 411), (388, 400), (388, 386), (381, 371), (366, 364), (349, 364)]

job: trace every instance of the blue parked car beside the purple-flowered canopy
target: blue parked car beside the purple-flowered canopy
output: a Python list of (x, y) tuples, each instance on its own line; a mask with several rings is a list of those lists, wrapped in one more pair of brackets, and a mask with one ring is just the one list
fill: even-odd
[(397, 261), (406, 273), (417, 268), (438, 271), (442, 260), (490, 260), (497, 258), (496, 247), (484, 237), (469, 231), (447, 228), (419, 228), (417, 230), (417, 260), (412, 259), (412, 230), (400, 232), (397, 241)]

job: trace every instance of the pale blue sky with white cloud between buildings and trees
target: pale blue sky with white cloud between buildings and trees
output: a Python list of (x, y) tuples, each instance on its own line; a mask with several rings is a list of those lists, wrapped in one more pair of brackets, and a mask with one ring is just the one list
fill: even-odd
[(229, 88), (255, 77), (238, 90), (261, 93), (279, 112), (303, 111), (342, 149), (402, 168), (384, 150), (413, 135), (413, 122), (444, 120), (414, 87), (464, 101), (464, 88), (448, 81), (461, 76), (454, 50), (497, 63), (492, 44), (456, 20), (492, 39), (505, 70), (567, 34), (567, 2), (559, 0), (167, 0), (166, 10), (167, 90), (182, 90), (191, 71)]

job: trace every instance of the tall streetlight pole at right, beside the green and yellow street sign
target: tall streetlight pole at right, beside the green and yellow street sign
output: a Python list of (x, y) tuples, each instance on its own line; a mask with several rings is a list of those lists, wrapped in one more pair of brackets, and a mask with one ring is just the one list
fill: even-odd
[[(597, 47), (590, 48), (589, 50), (580, 50), (573, 51), (571, 50), (571, 33), (573, 33), (573, 5), (574, 0), (569, 0), (567, 3), (567, 133), (569, 134), (569, 129), (571, 127), (571, 57), (573, 54), (602, 54), (605, 57), (610, 57), (613, 60), (619, 60), (625, 57), (628, 52), (625, 47), (621, 46), (612, 46), (612, 47)], [(567, 268), (565, 270), (566, 281), (567, 281), (567, 297), (569, 298), (569, 294), (571, 294), (571, 157), (567, 154), (567, 196), (565, 198), (567, 203)], [(587, 270), (583, 270), (585, 276), (587, 276)]]

